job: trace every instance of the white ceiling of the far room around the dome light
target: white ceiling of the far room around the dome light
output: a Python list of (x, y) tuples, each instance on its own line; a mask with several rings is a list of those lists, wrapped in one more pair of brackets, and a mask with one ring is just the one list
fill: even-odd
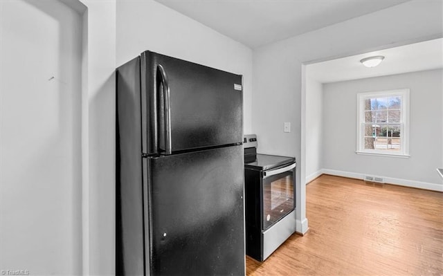
[[(385, 57), (379, 66), (367, 68), (360, 63), (361, 59), (374, 55)], [(327, 83), (437, 68), (443, 68), (443, 39), (441, 38), (309, 64), (307, 73), (312, 79)]]

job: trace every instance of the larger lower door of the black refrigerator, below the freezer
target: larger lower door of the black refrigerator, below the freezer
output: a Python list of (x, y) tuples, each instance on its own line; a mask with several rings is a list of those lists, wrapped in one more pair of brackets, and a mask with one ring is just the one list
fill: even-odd
[(244, 275), (242, 151), (143, 158), (147, 275)]

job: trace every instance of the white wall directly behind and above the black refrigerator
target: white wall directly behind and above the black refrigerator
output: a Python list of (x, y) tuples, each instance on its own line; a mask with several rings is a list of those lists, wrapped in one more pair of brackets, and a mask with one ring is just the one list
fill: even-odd
[(118, 1), (117, 65), (145, 50), (243, 75), (244, 133), (251, 133), (250, 48), (156, 1)]

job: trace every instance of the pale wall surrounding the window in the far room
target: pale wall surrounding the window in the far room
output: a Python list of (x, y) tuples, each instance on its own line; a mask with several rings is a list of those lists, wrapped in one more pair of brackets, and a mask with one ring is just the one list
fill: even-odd
[[(443, 71), (420, 71), (323, 86), (323, 165), (343, 172), (441, 183)], [(410, 158), (356, 154), (356, 94), (410, 89)], [(440, 184), (441, 185), (441, 184)]]

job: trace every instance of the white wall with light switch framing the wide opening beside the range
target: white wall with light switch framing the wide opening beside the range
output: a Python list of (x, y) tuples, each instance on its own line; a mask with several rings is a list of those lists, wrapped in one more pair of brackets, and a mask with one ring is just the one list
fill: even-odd
[[(305, 160), (301, 148), (305, 68), (302, 62), (367, 53), (442, 37), (442, 2), (408, 1), (253, 51), (253, 131), (260, 151), (296, 156), (298, 232), (305, 232)], [(292, 122), (292, 131), (282, 130)], [(305, 122), (303, 122), (305, 127)], [(306, 126), (307, 127), (307, 126)], [(301, 185), (300, 185), (301, 184)]]

